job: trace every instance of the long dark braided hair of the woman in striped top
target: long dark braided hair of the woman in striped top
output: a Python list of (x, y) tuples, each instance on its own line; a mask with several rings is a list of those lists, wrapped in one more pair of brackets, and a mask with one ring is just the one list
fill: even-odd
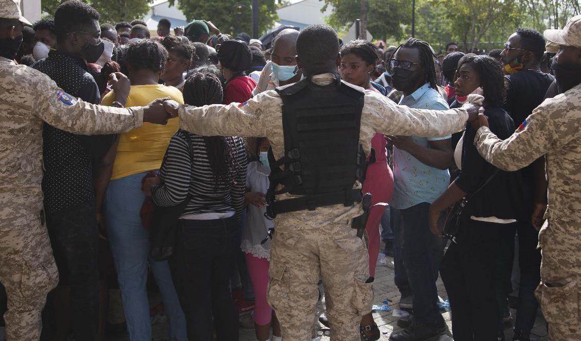
[[(194, 72), (185, 81), (184, 102), (191, 106), (202, 107), (208, 104), (222, 104), (223, 90), (220, 79), (206, 72)], [(205, 136), (206, 151), (210, 168), (218, 183), (235, 183), (237, 164), (232, 151), (235, 145), (232, 136)]]

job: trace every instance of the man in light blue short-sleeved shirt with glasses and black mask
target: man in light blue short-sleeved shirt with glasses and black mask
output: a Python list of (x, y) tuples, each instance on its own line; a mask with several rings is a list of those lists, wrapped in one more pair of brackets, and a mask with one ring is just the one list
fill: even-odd
[[(404, 95), (400, 105), (448, 109), (437, 90), (433, 53), (427, 42), (405, 41), (393, 53), (390, 67), (392, 84)], [(390, 205), (400, 210), (405, 226), (394, 229), (395, 281), (401, 292), (400, 307), (414, 310), (413, 318), (399, 320), (398, 325), (406, 329), (393, 333), (392, 341), (431, 338), (446, 326), (436, 305), (436, 280), (446, 241), (429, 232), (428, 210), (450, 181), (450, 137), (389, 136), (394, 178)]]

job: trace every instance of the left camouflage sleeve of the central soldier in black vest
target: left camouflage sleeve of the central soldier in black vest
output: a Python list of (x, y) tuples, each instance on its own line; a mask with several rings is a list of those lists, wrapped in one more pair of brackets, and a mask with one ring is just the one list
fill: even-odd
[(278, 94), (271, 90), (244, 103), (181, 107), (180, 128), (201, 136), (268, 136), (268, 121), (281, 112), (280, 103)]

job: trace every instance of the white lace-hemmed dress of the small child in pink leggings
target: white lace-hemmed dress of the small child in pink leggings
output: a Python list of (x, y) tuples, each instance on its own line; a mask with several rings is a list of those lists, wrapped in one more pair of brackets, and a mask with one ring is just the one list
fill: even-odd
[[(260, 161), (250, 162), (246, 168), (246, 187), (250, 188), (251, 192), (266, 194), (269, 184), (268, 175), (270, 175), (270, 169), (263, 166)], [(274, 222), (264, 217), (265, 212), (266, 207), (257, 208), (254, 205), (246, 207), (246, 220), (242, 229), (240, 248), (254, 257), (270, 260), (270, 239), (260, 244), (266, 238), (268, 228), (274, 227)]]

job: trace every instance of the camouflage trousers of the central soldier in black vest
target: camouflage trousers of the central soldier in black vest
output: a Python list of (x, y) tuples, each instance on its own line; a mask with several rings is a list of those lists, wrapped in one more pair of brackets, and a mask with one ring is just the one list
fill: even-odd
[(361, 316), (371, 311), (367, 250), (344, 222), (320, 228), (280, 224), (271, 246), (268, 303), (285, 341), (311, 340), (317, 283), (325, 286), (332, 340), (359, 340)]

